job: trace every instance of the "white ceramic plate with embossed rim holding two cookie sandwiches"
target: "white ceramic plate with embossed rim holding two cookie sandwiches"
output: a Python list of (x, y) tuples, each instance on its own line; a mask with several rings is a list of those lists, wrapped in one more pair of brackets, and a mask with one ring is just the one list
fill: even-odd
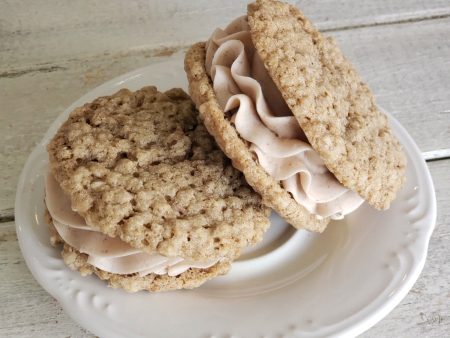
[(120, 76), (62, 113), (31, 153), (17, 189), (20, 247), (33, 276), (81, 326), (102, 337), (356, 336), (408, 293), (425, 263), (436, 219), (430, 173), (403, 127), (407, 182), (388, 211), (367, 205), (323, 234), (275, 215), (264, 242), (231, 272), (192, 291), (127, 294), (81, 277), (50, 246), (43, 219), (45, 145), (75, 107), (119, 88), (187, 87), (182, 55)]

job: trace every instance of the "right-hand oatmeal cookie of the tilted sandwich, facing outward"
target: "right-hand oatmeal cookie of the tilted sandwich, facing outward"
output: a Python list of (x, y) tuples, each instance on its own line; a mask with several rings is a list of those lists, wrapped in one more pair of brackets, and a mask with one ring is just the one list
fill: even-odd
[(333, 39), (294, 6), (248, 6), (255, 48), (311, 146), (346, 187), (386, 209), (405, 179), (406, 158), (387, 117)]

